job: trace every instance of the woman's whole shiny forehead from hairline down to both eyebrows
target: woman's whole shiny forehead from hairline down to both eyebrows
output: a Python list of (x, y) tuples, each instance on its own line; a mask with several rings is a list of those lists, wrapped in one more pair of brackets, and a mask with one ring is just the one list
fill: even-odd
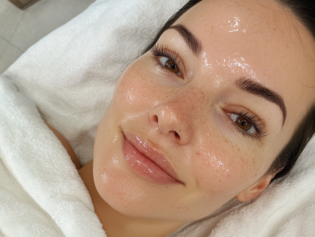
[(295, 111), (293, 118), (305, 110), (301, 104), (310, 102), (314, 40), (275, 1), (203, 0), (175, 24), (185, 25), (201, 41), (208, 73), (225, 78), (236, 74), (233, 79), (247, 76), (265, 84), (284, 98), (288, 115)]

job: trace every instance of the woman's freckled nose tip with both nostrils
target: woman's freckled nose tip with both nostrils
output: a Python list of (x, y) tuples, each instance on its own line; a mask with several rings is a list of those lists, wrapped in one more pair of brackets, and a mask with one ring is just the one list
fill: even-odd
[(150, 121), (172, 141), (186, 145), (192, 138), (188, 111), (175, 104), (158, 105), (149, 112)]

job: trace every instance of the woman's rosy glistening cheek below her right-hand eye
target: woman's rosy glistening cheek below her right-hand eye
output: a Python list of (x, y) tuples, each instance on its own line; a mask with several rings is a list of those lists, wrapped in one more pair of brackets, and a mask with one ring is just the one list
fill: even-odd
[(222, 140), (214, 132), (209, 134), (199, 140), (195, 151), (197, 186), (211, 197), (231, 199), (255, 183), (264, 174), (266, 164), (261, 163), (257, 150)]

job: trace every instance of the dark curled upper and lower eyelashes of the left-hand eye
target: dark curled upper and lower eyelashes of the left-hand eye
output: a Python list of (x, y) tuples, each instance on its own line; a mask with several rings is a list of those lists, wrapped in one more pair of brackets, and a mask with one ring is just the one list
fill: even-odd
[[(178, 54), (176, 51), (171, 51), (169, 50), (168, 46), (166, 45), (165, 47), (163, 44), (161, 46), (159, 44), (155, 44), (151, 49), (150, 52), (155, 56), (155, 57), (165, 57), (171, 59), (177, 66), (180, 65), (181, 60), (178, 59)], [(157, 66), (159, 66), (162, 70), (167, 71), (174, 75), (175, 73), (168, 70), (161, 62), (154, 57), (154, 60), (157, 62)], [(181, 70), (180, 70), (181, 71)], [(177, 75), (179, 76), (179, 75)]]

